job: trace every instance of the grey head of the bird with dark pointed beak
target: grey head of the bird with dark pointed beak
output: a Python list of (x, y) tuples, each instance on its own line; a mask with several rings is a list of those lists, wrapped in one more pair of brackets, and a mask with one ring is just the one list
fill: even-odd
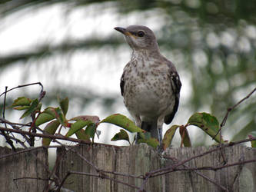
[(115, 30), (125, 35), (126, 41), (134, 50), (158, 50), (158, 42), (150, 28), (142, 25), (130, 25), (128, 28), (116, 27)]

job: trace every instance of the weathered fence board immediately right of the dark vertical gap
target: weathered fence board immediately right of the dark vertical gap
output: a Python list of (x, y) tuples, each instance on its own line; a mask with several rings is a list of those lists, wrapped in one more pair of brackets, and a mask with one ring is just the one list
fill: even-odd
[[(105, 147), (104, 145), (95, 144), (79, 145), (73, 147), (74, 151), (65, 151), (65, 148), (58, 148), (59, 157), (58, 173), (63, 179), (68, 171), (85, 172), (88, 174), (98, 174), (97, 171), (84, 161), (78, 154), (81, 154), (88, 161), (91, 161), (100, 169), (113, 171), (115, 170), (115, 149)], [(108, 174), (107, 174), (108, 175)], [(111, 175), (108, 175), (111, 176)], [(65, 181), (65, 188), (74, 191), (113, 191), (114, 184), (111, 180), (103, 180), (98, 177), (91, 177), (79, 174), (71, 174)]]

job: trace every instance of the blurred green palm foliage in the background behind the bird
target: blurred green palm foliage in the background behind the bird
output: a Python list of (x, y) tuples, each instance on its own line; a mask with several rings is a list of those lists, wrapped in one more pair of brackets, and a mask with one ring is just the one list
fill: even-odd
[[(101, 5), (115, 7), (119, 15), (135, 12), (147, 15), (161, 14), (165, 25), (156, 31), (161, 50), (175, 61), (179, 71), (187, 76), (191, 95), (185, 108), (191, 111), (211, 111), (219, 121), (228, 107), (244, 98), (256, 86), (256, 2), (242, 0), (169, 0), (169, 1), (1, 1), (2, 18), (25, 8), (39, 9), (64, 3), (69, 10), (79, 6)], [(102, 10), (95, 9), (100, 14)], [(139, 18), (144, 19), (144, 18)], [(125, 42), (121, 38), (90, 38), (81, 41), (63, 41), (60, 45), (42, 45), (24, 53), (0, 55), (0, 68), (31, 58), (51, 58), (56, 53), (65, 55), (81, 49), (97, 50), (104, 45), (117, 48)], [(182, 75), (181, 75), (182, 80)], [(58, 88), (64, 92), (65, 88)], [(54, 93), (54, 91), (52, 91)], [(51, 94), (52, 94), (51, 93)], [(85, 98), (82, 91), (70, 91)], [(87, 93), (87, 92), (86, 92)], [(80, 95), (81, 94), (81, 95)], [(94, 94), (94, 93), (92, 93)], [(65, 95), (69, 98), (72, 95)], [(96, 96), (109, 105), (115, 97)], [(95, 98), (85, 98), (91, 101)], [(253, 95), (228, 118), (235, 140), (244, 138), (256, 127), (256, 99)], [(193, 113), (191, 112), (191, 114)], [(241, 134), (238, 134), (241, 133)]]

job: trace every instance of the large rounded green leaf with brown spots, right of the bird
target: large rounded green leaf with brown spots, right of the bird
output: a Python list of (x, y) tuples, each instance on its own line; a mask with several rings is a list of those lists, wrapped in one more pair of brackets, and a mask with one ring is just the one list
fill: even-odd
[[(206, 134), (210, 135), (212, 138), (218, 133), (219, 123), (217, 118), (207, 113), (195, 113), (189, 118), (188, 124), (197, 126), (201, 128)], [(223, 143), (224, 141), (218, 134), (214, 137), (214, 140), (218, 143)]]

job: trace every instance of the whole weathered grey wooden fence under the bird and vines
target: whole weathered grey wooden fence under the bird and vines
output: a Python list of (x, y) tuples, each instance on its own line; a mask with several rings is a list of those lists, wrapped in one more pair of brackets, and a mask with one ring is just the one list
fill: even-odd
[[(256, 191), (256, 149), (168, 148), (159, 155), (146, 144), (58, 147), (48, 170), (47, 149), (0, 149), (1, 191), (49, 191), (52, 180), (66, 191)], [(254, 160), (254, 161), (253, 161)], [(48, 178), (51, 177), (51, 180)], [(56, 181), (55, 180), (55, 181)]]

